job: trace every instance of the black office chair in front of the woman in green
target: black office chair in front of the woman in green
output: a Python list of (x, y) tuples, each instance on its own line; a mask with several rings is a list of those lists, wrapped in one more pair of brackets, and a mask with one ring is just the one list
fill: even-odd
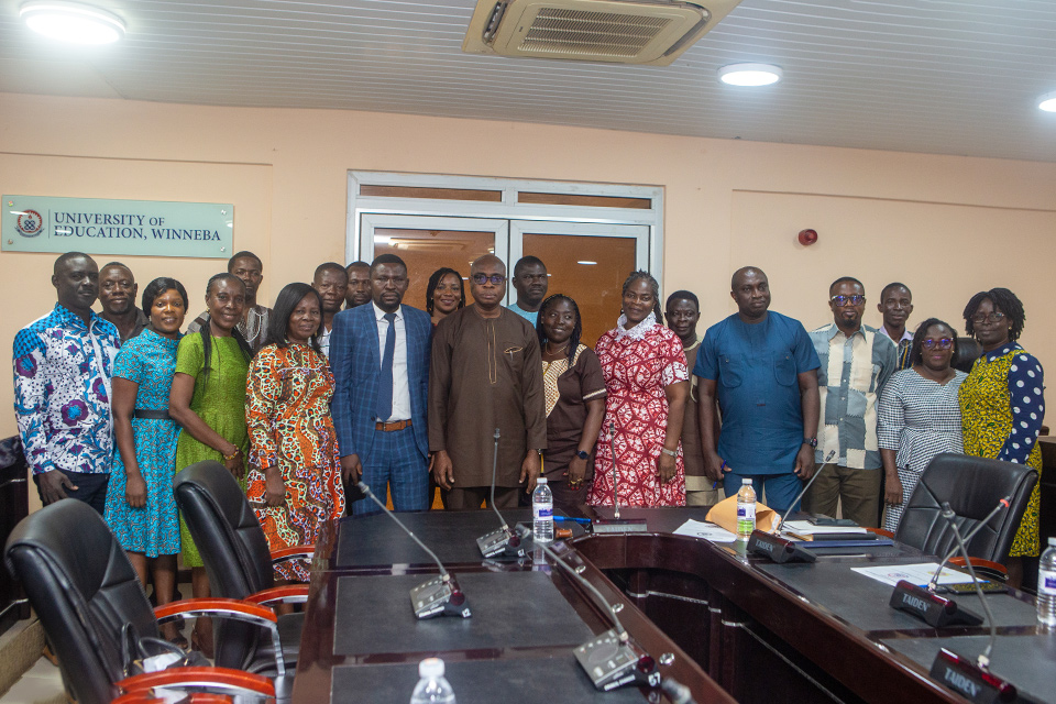
[[(222, 464), (198, 462), (173, 482), (176, 505), (198, 548), (213, 596), (262, 605), (305, 602), (307, 585), (275, 586), (276, 562), (310, 558), (314, 546), (268, 552), (267, 539), (239, 483)], [(304, 614), (278, 617), (282, 657), (289, 669), (297, 663)], [(218, 666), (272, 674), (275, 662), (267, 632), (242, 623), (215, 628)]]

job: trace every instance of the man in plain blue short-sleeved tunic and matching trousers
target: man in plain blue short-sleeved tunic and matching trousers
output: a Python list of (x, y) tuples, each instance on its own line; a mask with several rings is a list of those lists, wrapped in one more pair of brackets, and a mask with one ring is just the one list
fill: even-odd
[(704, 471), (727, 496), (751, 479), (756, 495), (783, 513), (814, 473), (821, 362), (803, 324), (769, 310), (762, 270), (737, 270), (730, 289), (737, 312), (707, 329), (693, 369)]

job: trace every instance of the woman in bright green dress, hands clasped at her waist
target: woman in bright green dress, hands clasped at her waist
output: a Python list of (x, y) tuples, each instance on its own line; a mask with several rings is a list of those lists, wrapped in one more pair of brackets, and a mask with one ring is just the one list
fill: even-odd
[[(206, 286), (209, 324), (185, 336), (176, 351), (176, 374), (168, 414), (183, 428), (176, 443), (176, 470), (222, 462), (244, 482), (249, 435), (245, 429), (245, 377), (253, 352), (235, 326), (242, 320), (245, 284), (233, 274), (217, 274)], [(244, 486), (243, 486), (244, 488)], [(183, 519), (182, 554), (189, 566), (195, 597), (209, 596), (209, 579)], [(212, 657), (212, 625), (199, 618), (191, 645)]]

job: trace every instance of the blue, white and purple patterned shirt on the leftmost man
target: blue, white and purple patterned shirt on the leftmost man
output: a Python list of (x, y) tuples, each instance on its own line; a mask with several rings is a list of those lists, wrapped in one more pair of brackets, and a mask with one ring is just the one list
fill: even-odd
[(14, 338), (14, 415), (34, 474), (109, 474), (110, 378), (121, 340), (95, 312), (89, 324), (56, 304)]

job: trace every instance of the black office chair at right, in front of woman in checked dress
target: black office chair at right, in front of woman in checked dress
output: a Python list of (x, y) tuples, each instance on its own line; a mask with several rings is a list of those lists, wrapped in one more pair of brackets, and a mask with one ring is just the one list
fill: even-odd
[(1009, 507), (967, 543), (972, 564), (980, 559), (1003, 565), (1036, 483), (1037, 472), (1024, 464), (944, 452), (921, 475), (902, 512), (894, 539), (928, 554), (945, 556), (956, 544), (956, 538), (942, 516), (944, 502), (957, 515), (954, 520), (964, 536), (1001, 498), (1011, 496)]

